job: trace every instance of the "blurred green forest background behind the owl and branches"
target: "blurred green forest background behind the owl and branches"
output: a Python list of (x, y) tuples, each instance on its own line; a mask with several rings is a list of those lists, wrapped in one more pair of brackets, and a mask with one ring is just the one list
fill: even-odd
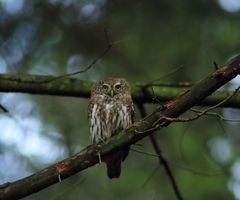
[[(196, 82), (214, 71), (214, 61), (222, 64), (240, 49), (240, 12), (226, 11), (216, 0), (2, 0), (0, 13), (1, 73), (62, 75), (82, 70), (108, 45), (104, 28), (113, 47), (76, 78), (117, 76), (145, 83), (183, 66), (161, 82)], [(39, 137), (60, 150), (49, 152), (54, 155), (47, 161), (44, 154), (22, 153), (17, 144), (29, 144), (29, 136), (15, 137), (12, 129), (12, 142), (6, 143), (3, 129), (0, 183), (34, 173), (89, 144), (86, 99), (14, 95), (0, 96), (10, 112), (1, 113), (0, 126), (6, 128), (6, 119), (13, 118), (17, 129), (31, 134), (36, 131), (31, 120), (37, 120)], [(155, 107), (146, 105), (148, 112)], [(237, 110), (218, 112), (239, 117)], [(24, 119), (31, 120), (24, 124)], [(240, 199), (238, 123), (204, 117), (175, 123), (157, 138), (186, 199)], [(133, 148), (154, 152), (147, 138), (139, 143)], [(33, 148), (42, 151), (39, 145)], [(13, 163), (18, 167), (6, 173), (6, 165)], [(149, 179), (158, 165), (156, 157), (131, 151), (120, 179), (109, 180), (104, 164), (96, 165), (25, 199), (175, 199), (162, 166)]]

